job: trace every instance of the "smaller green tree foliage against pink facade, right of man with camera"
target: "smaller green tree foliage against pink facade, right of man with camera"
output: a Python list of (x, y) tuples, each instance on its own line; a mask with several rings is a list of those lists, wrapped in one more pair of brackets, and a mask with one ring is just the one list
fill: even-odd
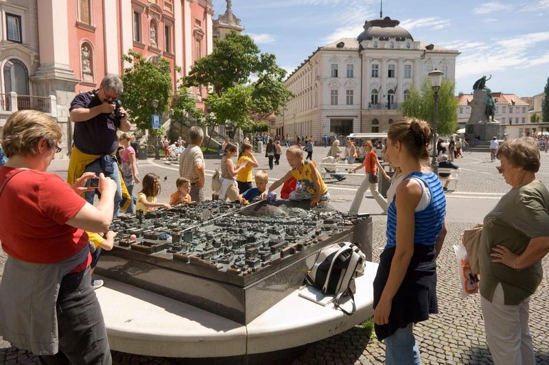
[[(150, 62), (143, 55), (130, 49), (122, 56), (131, 67), (124, 69), (121, 79), (124, 82), (124, 93), (120, 96), (124, 108), (137, 128), (151, 129), (151, 115), (162, 114), (170, 104), (172, 92), (172, 73), (170, 62), (159, 57), (158, 63)], [(152, 100), (157, 99), (159, 105), (154, 110)], [(152, 131), (152, 134), (155, 134)]]

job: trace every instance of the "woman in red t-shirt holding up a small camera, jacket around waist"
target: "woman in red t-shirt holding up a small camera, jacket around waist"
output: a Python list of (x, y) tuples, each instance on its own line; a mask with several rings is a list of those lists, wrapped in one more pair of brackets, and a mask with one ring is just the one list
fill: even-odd
[(113, 219), (116, 183), (99, 177), (97, 207), (46, 172), (60, 152), (57, 123), (35, 110), (13, 113), (3, 128), (8, 163), (0, 167), (0, 240), (8, 259), (0, 283), (0, 335), (43, 355), (46, 364), (110, 364), (110, 349), (91, 287), (89, 239)]

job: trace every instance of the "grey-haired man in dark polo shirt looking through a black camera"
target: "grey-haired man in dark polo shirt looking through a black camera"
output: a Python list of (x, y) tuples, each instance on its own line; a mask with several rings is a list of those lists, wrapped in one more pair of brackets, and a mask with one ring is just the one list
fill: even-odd
[[(131, 127), (128, 114), (117, 99), (123, 92), (122, 80), (108, 73), (99, 89), (76, 95), (69, 108), (74, 134), (67, 182), (72, 185), (84, 172), (95, 172), (97, 176), (102, 172), (115, 180), (115, 217), (119, 213), (123, 191), (115, 156), (118, 148), (116, 132), (118, 129), (128, 132)], [(91, 204), (94, 196), (95, 191), (85, 193), (86, 201)]]

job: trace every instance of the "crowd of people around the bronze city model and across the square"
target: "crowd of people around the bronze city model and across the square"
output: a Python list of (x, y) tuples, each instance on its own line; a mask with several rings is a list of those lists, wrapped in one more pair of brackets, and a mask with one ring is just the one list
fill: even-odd
[[(8, 262), (0, 283), (0, 335), (39, 354), (45, 364), (111, 362), (93, 292), (102, 282), (91, 274), (102, 250), (113, 248), (113, 217), (120, 211), (146, 214), (205, 200), (202, 128), (189, 128), (186, 148), (183, 139), (163, 141), (166, 156), (178, 158), (179, 177), (170, 201), (159, 202), (161, 178), (152, 172), (141, 178), (128, 114), (124, 108), (115, 113), (111, 104), (123, 92), (121, 80), (107, 75), (99, 89), (81, 93), (71, 103), (75, 130), (66, 183), (47, 173), (62, 137), (51, 117), (21, 110), (3, 128), (0, 151), (7, 159), (0, 167), (0, 240)], [(385, 342), (387, 364), (421, 363), (413, 325), (439, 310), (436, 258), (447, 232), (446, 187), (428, 165), (432, 137), (426, 121), (406, 117), (391, 123), (384, 141), (347, 139), (340, 146), (339, 139), (322, 138), (325, 147), (331, 145), (323, 161), (360, 161), (348, 173), (364, 171), (349, 213), (358, 214), (370, 189), (387, 216), (386, 245), (373, 282), (375, 332)], [(288, 135), (264, 139), (270, 169), (281, 164), (282, 154), (288, 169), (270, 185), (253, 145), (244, 141), (239, 153), (226, 140), (215, 195), (248, 204), (277, 199), (281, 187), (281, 199), (306, 200), (311, 207), (327, 204), (329, 184), (314, 161), (313, 137), (296, 136), (291, 146), (288, 140)], [(282, 141), (288, 146), (284, 153)], [(452, 161), (463, 157), (465, 145), (459, 137), (440, 139), (439, 166), (457, 168)], [(393, 176), (386, 174), (376, 150), (384, 150)], [(534, 364), (528, 303), (541, 282), (541, 259), (549, 252), (549, 191), (535, 176), (540, 154), (534, 139), (506, 140), (491, 154), (500, 161), (498, 172), (511, 191), (485, 217), (480, 242), (487, 341), (495, 364)], [(329, 173), (337, 180), (346, 178), (337, 169)], [(377, 191), (378, 176), (390, 182), (387, 198)], [(136, 184), (141, 190), (134, 196)], [(8, 213), (8, 207), (17, 209)]]

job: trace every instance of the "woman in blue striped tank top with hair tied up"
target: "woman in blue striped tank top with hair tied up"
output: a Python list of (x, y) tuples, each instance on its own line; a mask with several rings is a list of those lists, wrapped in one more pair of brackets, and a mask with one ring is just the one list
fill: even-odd
[(375, 333), (385, 340), (386, 364), (421, 364), (413, 324), (438, 313), (436, 257), (446, 235), (446, 200), (426, 165), (432, 139), (426, 121), (389, 126), (387, 152), (404, 180), (387, 216), (387, 243), (373, 282)]

